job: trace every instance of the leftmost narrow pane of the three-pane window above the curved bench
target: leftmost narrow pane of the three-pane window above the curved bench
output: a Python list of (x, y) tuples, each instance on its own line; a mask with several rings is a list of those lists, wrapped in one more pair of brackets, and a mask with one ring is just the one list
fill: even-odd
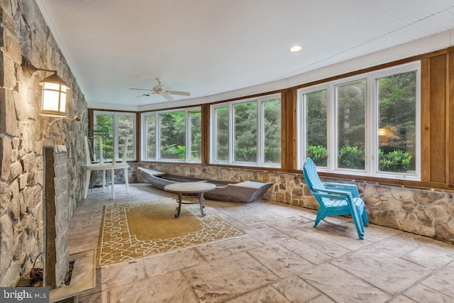
[(216, 161), (228, 161), (228, 107), (215, 109)]

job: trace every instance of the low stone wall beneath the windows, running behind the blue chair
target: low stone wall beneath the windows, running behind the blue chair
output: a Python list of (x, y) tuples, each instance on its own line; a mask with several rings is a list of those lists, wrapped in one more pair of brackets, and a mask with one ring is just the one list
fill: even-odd
[[(302, 174), (163, 163), (141, 163), (140, 166), (172, 175), (208, 180), (273, 182), (274, 185), (263, 195), (263, 199), (309, 209), (318, 209), (319, 206), (311, 196)], [(137, 170), (134, 170), (133, 177), (139, 182), (146, 182)], [(324, 181), (345, 182), (333, 179)], [(453, 192), (366, 182), (350, 183), (358, 186), (372, 224), (454, 243)]]

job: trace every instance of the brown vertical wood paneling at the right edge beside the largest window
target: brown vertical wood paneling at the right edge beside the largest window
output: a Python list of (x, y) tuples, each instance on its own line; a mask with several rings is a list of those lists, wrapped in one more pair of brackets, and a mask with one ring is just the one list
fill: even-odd
[(421, 181), (454, 189), (454, 48), (421, 59)]

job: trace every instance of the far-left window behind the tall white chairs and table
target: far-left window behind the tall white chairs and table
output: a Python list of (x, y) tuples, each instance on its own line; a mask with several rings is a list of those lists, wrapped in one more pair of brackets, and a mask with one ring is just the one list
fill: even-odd
[[(122, 160), (125, 155), (121, 155), (123, 145), (128, 137), (128, 155), (126, 160), (135, 160), (135, 114), (108, 111), (94, 111), (94, 125), (108, 130), (108, 138), (103, 145), (104, 160), (112, 160), (114, 153), (116, 158)], [(114, 144), (116, 143), (116, 145)], [(114, 150), (114, 146), (116, 146)]]

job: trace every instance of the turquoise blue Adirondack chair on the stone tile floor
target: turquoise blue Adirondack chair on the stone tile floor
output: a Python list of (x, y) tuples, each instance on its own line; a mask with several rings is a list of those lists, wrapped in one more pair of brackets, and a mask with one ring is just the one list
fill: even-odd
[(364, 201), (360, 198), (358, 187), (354, 184), (321, 182), (316, 165), (311, 158), (304, 162), (304, 180), (307, 187), (319, 202), (319, 211), (314, 227), (326, 216), (350, 214), (355, 223), (358, 236), (364, 238), (364, 227), (369, 224)]

